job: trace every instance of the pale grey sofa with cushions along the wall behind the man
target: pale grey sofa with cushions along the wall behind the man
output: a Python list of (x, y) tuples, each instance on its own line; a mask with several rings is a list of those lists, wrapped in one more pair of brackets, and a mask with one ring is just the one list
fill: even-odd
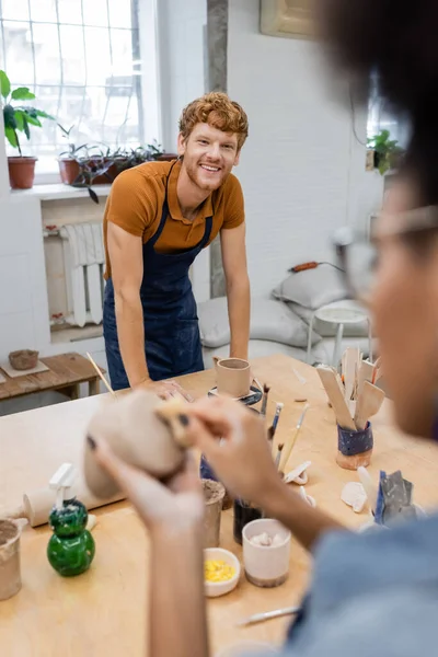
[[(252, 298), (250, 359), (272, 354), (287, 354), (307, 360), (309, 322), (314, 310), (333, 301), (348, 298), (337, 270), (320, 265), (299, 274), (290, 274), (275, 290), (273, 297)], [(224, 297), (198, 304), (199, 328), (207, 368), (212, 356), (227, 357), (230, 330)], [(310, 364), (332, 362), (337, 326), (326, 322), (313, 324)], [(346, 325), (342, 349), (359, 347), (369, 355), (368, 322)], [(373, 346), (374, 348), (374, 346)]]

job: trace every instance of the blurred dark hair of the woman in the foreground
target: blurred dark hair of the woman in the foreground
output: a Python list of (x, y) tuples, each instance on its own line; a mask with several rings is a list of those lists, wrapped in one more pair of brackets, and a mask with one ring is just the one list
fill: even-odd
[(320, 27), (335, 62), (365, 90), (371, 77), (407, 117), (405, 169), (420, 203), (438, 204), (438, 0), (319, 0)]

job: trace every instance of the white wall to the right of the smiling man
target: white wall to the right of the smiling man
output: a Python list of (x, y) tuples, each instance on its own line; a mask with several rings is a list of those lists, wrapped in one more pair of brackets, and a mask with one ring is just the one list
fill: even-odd
[[(252, 292), (258, 296), (292, 265), (332, 258), (331, 233), (348, 221), (365, 222), (381, 181), (365, 172), (350, 107), (330, 96), (318, 46), (260, 34), (254, 0), (230, 0), (229, 21), (228, 92), (250, 119), (235, 173), (246, 203)], [(365, 115), (355, 118), (365, 142)]]

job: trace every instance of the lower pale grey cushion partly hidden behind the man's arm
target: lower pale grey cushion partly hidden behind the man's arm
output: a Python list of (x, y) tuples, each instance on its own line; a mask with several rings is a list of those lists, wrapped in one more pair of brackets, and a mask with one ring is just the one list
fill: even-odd
[[(200, 339), (205, 347), (217, 348), (230, 343), (227, 298), (198, 304)], [(250, 338), (270, 341), (292, 347), (307, 347), (308, 326), (286, 303), (275, 299), (251, 300)], [(313, 332), (312, 344), (321, 337)]]

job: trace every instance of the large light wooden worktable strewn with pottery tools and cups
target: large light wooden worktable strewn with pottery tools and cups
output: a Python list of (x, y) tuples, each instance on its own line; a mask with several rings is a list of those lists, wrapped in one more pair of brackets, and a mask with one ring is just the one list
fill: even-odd
[[(302, 384), (293, 368), (307, 379)], [(319, 377), (311, 367), (286, 356), (254, 362), (255, 376), (270, 384), (268, 418), (275, 402), (285, 408), (278, 439), (285, 440), (296, 424), (306, 396), (311, 407), (289, 465), (311, 460), (307, 491), (320, 508), (348, 526), (368, 520), (341, 502), (344, 484), (355, 474), (335, 463), (336, 429)], [(195, 396), (214, 384), (214, 372), (192, 374), (182, 382)], [(0, 418), (0, 509), (19, 505), (24, 488), (45, 485), (58, 465), (79, 462), (84, 427), (95, 408), (108, 403), (99, 395)], [(391, 426), (389, 408), (374, 420), (376, 449), (370, 466), (402, 469), (415, 484), (415, 502), (424, 507), (438, 505), (438, 447), (401, 436)], [(145, 657), (147, 613), (148, 541), (143, 528), (127, 503), (97, 510), (94, 529), (96, 557), (84, 575), (62, 579), (49, 566), (45, 550), (47, 527), (25, 529), (22, 537), (22, 591), (0, 603), (0, 654), (8, 657)], [(232, 511), (222, 515), (221, 545), (241, 557), (232, 539)], [(249, 639), (280, 643), (288, 619), (253, 627), (235, 626), (239, 619), (298, 602), (308, 584), (310, 558), (292, 541), (290, 577), (276, 589), (260, 589), (242, 580), (232, 593), (208, 601), (211, 646), (217, 650)], [(172, 595), (172, 591), (169, 591)], [(170, 629), (171, 631), (171, 629)]]

